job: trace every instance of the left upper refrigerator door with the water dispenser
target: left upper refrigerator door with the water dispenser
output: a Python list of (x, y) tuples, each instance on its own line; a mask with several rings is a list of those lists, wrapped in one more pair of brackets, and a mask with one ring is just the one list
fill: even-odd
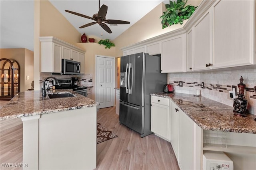
[[(120, 100), (128, 102), (128, 67), (129, 56), (121, 57), (120, 72), (123, 73), (124, 86), (120, 86)], [(121, 77), (122, 78), (122, 75)]]

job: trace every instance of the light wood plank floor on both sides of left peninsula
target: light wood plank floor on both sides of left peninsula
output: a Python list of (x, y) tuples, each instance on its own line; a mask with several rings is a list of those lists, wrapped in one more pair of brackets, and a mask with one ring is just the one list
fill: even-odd
[[(179, 169), (169, 142), (154, 134), (141, 138), (137, 132), (119, 124), (115, 109), (103, 108), (97, 112), (98, 122), (118, 137), (97, 144), (96, 170)], [(22, 163), (22, 121), (2, 121), (0, 128), (0, 163)]]

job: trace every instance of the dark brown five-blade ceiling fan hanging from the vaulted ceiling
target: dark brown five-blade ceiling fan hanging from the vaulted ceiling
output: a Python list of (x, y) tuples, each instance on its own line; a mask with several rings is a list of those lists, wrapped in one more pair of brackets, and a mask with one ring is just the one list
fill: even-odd
[(91, 25), (94, 25), (94, 24), (98, 23), (106, 32), (112, 33), (112, 31), (110, 30), (110, 28), (106, 24), (130, 24), (130, 22), (128, 22), (128, 21), (107, 20), (106, 19), (106, 14), (107, 14), (107, 11), (108, 11), (108, 6), (103, 4), (100, 7), (100, 0), (99, 0), (99, 11), (98, 11), (98, 14), (94, 14), (92, 17), (86, 16), (84, 14), (79, 14), (77, 12), (69, 11), (69, 10), (65, 10), (65, 11), (69, 12), (71, 14), (82, 16), (84, 18), (88, 18), (88, 19), (91, 19), (91, 20), (95, 21), (95, 22), (90, 22), (88, 24), (84, 24), (83, 26), (80, 26), (79, 28), (85, 28), (87, 26), (91, 26)]

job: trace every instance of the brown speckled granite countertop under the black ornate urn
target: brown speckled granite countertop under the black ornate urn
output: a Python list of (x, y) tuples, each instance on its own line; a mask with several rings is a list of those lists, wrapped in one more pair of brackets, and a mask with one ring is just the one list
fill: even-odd
[(233, 107), (192, 94), (159, 92), (151, 95), (170, 98), (204, 130), (256, 134), (254, 114), (234, 116)]

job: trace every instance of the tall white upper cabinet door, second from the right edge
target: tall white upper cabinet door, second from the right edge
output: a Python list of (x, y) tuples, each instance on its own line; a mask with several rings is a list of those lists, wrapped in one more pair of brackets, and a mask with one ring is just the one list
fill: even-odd
[(212, 27), (211, 27), (211, 18), (210, 12), (206, 12), (202, 18), (200, 18), (199, 22), (197, 22), (194, 26), (195, 34), (194, 34), (194, 68), (193, 70), (207, 70), (210, 69), (211, 66), (207, 66), (206, 64), (212, 64)]

